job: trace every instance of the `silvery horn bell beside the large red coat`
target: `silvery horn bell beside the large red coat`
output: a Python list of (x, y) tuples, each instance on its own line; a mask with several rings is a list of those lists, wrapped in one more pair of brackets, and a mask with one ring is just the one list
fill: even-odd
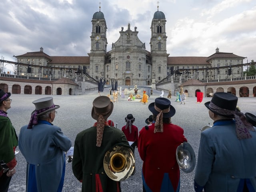
[(177, 147), (176, 159), (180, 169), (185, 173), (192, 172), (196, 166), (196, 155), (188, 142), (183, 142)]

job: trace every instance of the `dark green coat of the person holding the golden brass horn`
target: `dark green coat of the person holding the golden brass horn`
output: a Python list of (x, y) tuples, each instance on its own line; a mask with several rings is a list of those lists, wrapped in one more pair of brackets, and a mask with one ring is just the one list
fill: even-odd
[(114, 127), (104, 127), (100, 147), (96, 146), (95, 126), (78, 133), (74, 144), (72, 169), (74, 176), (82, 182), (82, 192), (97, 192), (96, 181), (98, 186), (102, 186), (103, 192), (121, 191), (120, 183), (111, 180), (103, 167), (106, 152), (117, 145), (130, 147), (124, 133)]

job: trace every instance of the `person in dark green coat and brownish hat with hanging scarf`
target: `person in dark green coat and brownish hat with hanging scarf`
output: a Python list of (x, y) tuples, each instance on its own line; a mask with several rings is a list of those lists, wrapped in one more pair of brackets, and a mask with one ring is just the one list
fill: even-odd
[(124, 133), (108, 124), (107, 118), (114, 108), (110, 98), (99, 96), (92, 105), (92, 118), (97, 122), (77, 134), (72, 170), (82, 182), (82, 192), (121, 192), (120, 182), (106, 175), (103, 160), (106, 152), (114, 146), (131, 147)]

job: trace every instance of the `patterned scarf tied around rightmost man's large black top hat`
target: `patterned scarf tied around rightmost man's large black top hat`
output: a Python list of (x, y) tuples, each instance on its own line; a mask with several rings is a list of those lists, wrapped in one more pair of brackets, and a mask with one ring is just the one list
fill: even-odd
[(248, 123), (246, 120), (246, 117), (243, 113), (238, 111), (232, 111), (227, 109), (222, 109), (212, 102), (209, 104), (210, 110), (213, 112), (217, 112), (222, 115), (234, 115), (234, 118), (236, 120), (236, 136), (238, 139), (248, 139), (252, 138), (249, 131), (255, 131), (252, 124)]

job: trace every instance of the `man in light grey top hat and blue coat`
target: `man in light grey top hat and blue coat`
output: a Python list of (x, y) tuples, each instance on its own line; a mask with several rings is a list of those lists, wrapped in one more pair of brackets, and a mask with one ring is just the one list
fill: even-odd
[(58, 126), (52, 124), (56, 109), (52, 97), (32, 102), (28, 125), (22, 126), (19, 148), (27, 161), (27, 192), (61, 192), (65, 174), (65, 151), (71, 147), (70, 139)]

